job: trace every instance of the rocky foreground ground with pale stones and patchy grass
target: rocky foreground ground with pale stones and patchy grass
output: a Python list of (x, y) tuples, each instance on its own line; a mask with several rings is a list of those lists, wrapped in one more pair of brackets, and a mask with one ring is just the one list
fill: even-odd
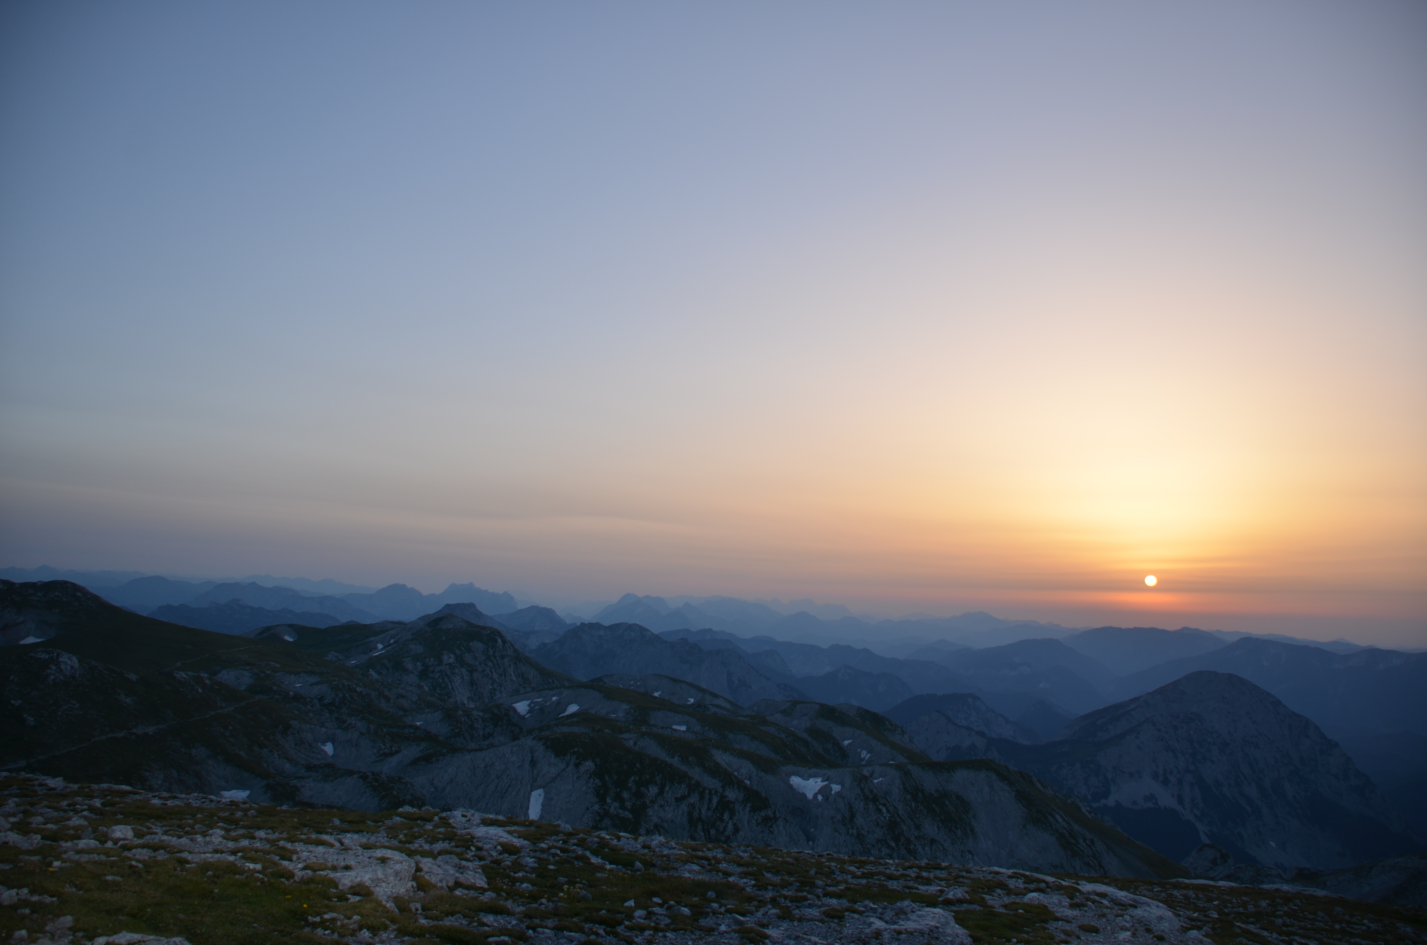
[(404, 808), (0, 779), (11, 942), (1424, 942), (1427, 911), (1289, 888), (671, 842)]

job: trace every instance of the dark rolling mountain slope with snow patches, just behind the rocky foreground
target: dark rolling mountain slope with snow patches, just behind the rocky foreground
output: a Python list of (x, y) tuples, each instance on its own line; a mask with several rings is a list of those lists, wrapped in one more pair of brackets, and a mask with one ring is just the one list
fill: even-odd
[[(872, 712), (577, 682), (455, 614), (235, 638), (64, 582), (6, 582), (0, 610), (49, 632), (0, 648), (11, 771), (1037, 871), (1177, 869), (1027, 775), (928, 761)], [(602, 652), (601, 634), (582, 637), (575, 654)]]

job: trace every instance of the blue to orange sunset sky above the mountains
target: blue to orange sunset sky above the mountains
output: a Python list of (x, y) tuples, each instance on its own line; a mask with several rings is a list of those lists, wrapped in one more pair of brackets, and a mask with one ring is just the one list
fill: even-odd
[(6, 4), (0, 564), (1427, 645), (1424, 167), (1410, 1)]

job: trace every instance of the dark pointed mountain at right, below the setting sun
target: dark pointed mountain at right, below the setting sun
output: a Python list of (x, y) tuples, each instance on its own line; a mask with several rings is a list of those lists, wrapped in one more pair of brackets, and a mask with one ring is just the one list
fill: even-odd
[(1032, 771), (1174, 859), (1213, 842), (1289, 875), (1418, 848), (1317, 725), (1229, 674), (1193, 672), (1083, 715), (1063, 741), (963, 742), (960, 757)]

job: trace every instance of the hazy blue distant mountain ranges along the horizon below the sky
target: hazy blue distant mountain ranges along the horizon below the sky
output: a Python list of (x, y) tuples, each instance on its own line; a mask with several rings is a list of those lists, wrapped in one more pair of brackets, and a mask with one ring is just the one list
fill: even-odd
[[(19, 575), (20, 570), (0, 574)], [(24, 574), (61, 572), (39, 568)], [(90, 587), (107, 584), (98, 591), (106, 600), (137, 612), (224, 632), (273, 624), (414, 620), (448, 604), (472, 604), (482, 614), (494, 614), (491, 620), (528, 652), (558, 638), (572, 625), (567, 617), (574, 617), (542, 607), (517, 611), (514, 595), (474, 584), (421, 594), (400, 584), (351, 590), (354, 585), (330, 580), (270, 575), (220, 584), (127, 572), (67, 574)], [(803, 604), (806, 610), (788, 612)], [(157, 612), (160, 607), (166, 610)], [(1313, 718), (1383, 787), (1414, 829), (1427, 834), (1423, 654), (1193, 628), (1075, 631), (982, 612), (873, 621), (836, 605), (729, 597), (626, 594), (605, 605), (598, 618), (621, 622), (614, 620), (621, 614), (639, 617), (632, 622), (666, 638), (694, 640), (704, 648), (738, 648), (762, 675), (815, 692), (823, 701), (889, 708), (908, 691), (977, 692), (987, 705), (1043, 739), (1056, 738), (1077, 714), (1147, 692), (1186, 672), (1234, 672)]]

